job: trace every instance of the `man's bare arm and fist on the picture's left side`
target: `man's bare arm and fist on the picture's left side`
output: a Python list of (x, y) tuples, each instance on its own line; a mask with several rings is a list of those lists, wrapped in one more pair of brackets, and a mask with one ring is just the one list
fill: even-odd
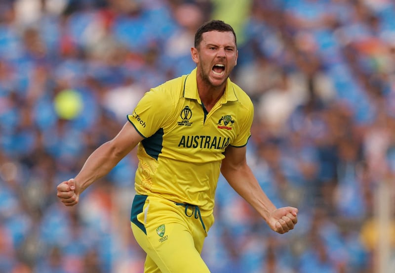
[(107, 175), (143, 137), (129, 122), (118, 135), (99, 146), (86, 160), (79, 174), (57, 186), (57, 196), (66, 206), (79, 202), (79, 195), (93, 182)]

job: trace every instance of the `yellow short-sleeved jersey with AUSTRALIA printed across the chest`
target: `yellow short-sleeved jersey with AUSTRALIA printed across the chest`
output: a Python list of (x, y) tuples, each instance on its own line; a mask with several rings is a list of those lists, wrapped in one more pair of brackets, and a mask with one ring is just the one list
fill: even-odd
[(137, 148), (136, 193), (212, 213), (224, 151), (247, 144), (254, 109), (248, 95), (228, 79), (224, 94), (207, 112), (196, 73), (195, 68), (151, 89), (127, 119), (144, 137)]

